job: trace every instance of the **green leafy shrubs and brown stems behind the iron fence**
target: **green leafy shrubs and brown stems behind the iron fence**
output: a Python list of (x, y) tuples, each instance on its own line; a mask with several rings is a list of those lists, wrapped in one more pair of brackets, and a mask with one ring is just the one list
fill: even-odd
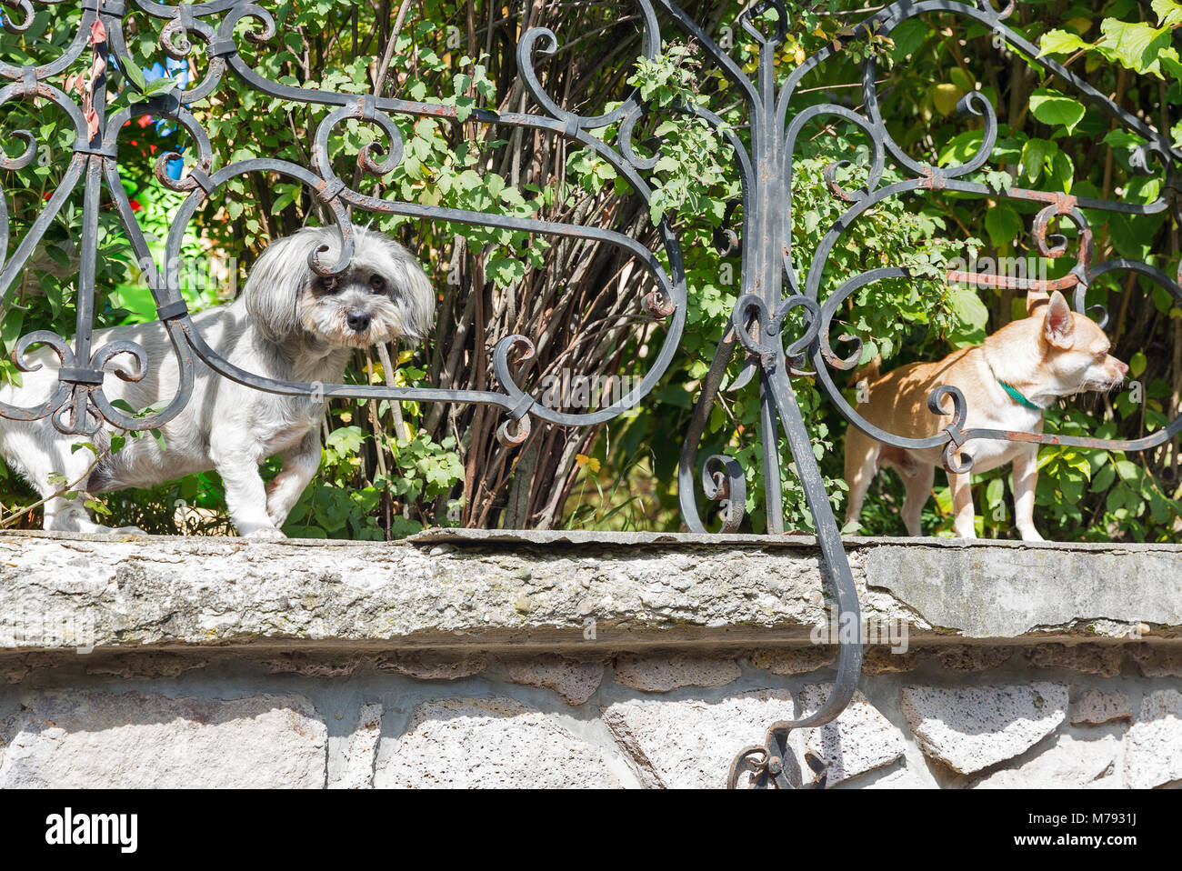
[[(693, 0), (684, 5), (697, 20), (723, 24), (733, 22), (745, 6), (728, 2), (717, 9), (716, 5)], [(384, 96), (455, 108), (461, 124), (395, 116), (404, 156), (382, 178), (359, 174), (356, 163), (365, 148), (381, 160), (389, 145), (384, 134), (358, 121), (338, 125), (329, 139), (329, 160), (342, 178), (366, 193), (481, 212), (494, 219), (538, 217), (618, 228), (657, 251), (662, 262), (665, 255), (655, 225), (669, 221), (680, 240), (689, 288), (687, 330), (674, 365), (639, 408), (602, 433), (592, 428), (571, 436), (580, 440), (577, 444), (567, 443), (566, 436), (553, 438), (546, 428), (538, 427), (534, 437), (548, 441), (538, 470), (531, 473), (537, 481), (526, 490), (534, 506), (544, 502), (560, 507), (558, 516), (547, 515), (554, 526), (676, 528), (677, 446), (740, 287), (740, 258), (719, 258), (713, 239), (717, 229), (734, 229), (742, 222), (741, 209), (727, 216), (728, 204), (740, 196), (728, 137), (738, 136), (749, 148), (748, 118), (733, 83), (703, 63), (703, 54), (693, 43), (667, 41), (656, 59), (634, 63), (638, 45), (635, 22), (619, 25), (613, 9), (600, 9), (596, 4), (541, 6), (546, 14), (571, 17), (561, 19), (565, 27), (553, 25), (564, 45), (561, 52), (551, 58), (548, 66), (539, 65), (547, 87), (553, 85), (552, 93), (574, 93), (571, 108), (580, 113), (610, 110), (631, 87), (638, 89), (649, 103), (651, 115), (632, 137), (638, 155), (657, 156), (655, 169), (641, 174), (651, 191), (648, 208), (637, 202), (634, 186), (593, 149), (570, 143), (561, 148), (531, 144), (532, 131), (519, 135), (512, 128), (474, 123), (474, 110), (518, 111), (522, 98), (514, 86), (512, 38), (505, 41), (489, 33), (487, 40), (478, 37), (475, 45), (469, 45), (465, 32), (467, 4), (426, 0), (415, 5), (394, 41), (389, 71), (381, 83), (375, 57), (385, 48), (391, 22), (368, 20), (374, 17), (365, 14), (365, 7), (343, 0), (280, 1), (268, 6), (278, 33), (266, 45), (255, 48), (241, 38), (242, 31), (252, 26), (248, 21), (239, 25), (236, 35), (249, 66), (287, 85), (348, 93), (372, 93), (381, 87)], [(864, 17), (852, 11), (862, 9), (863, 4), (786, 6), (788, 33), (774, 57), (780, 82), (813, 52), (847, 39), (852, 25)], [(1182, 5), (1169, 0), (1118, 0), (1098, 12), (1082, 5), (1060, 7), (1039, 1), (1019, 4), (1008, 25), (1039, 45), (1040, 57), (1053, 56), (1069, 64), (1098, 91), (1116, 95), (1125, 109), (1136, 110), (1147, 123), (1171, 128), (1175, 139), (1182, 142), (1182, 124), (1177, 124), (1182, 115), (1182, 63), (1171, 44), (1173, 30), (1182, 24)], [(474, 9), (478, 26), (502, 14), (500, 6), (480, 0)], [(44, 63), (45, 57), (65, 47), (73, 33), (66, 22), (76, 15), (76, 8), (39, 9), (24, 37), (0, 33), (0, 57), (14, 64)], [(131, 57), (111, 71), (118, 92), (115, 105), (138, 105), (147, 95), (176, 86), (173, 79), (148, 79), (148, 71), (161, 59), (157, 22), (143, 15), (134, 18), (135, 26), (128, 30)], [(551, 19), (543, 22), (553, 24)], [(508, 31), (513, 32), (513, 27)], [(741, 31), (734, 38), (736, 63), (754, 76), (758, 45)], [(820, 275), (821, 299), (850, 277), (878, 266), (905, 267), (911, 278), (879, 281), (850, 298), (832, 330), (839, 356), (847, 355), (850, 345), (837, 337), (849, 333), (863, 339), (863, 363), (876, 355), (882, 356), (884, 369), (937, 359), (952, 349), (980, 342), (986, 331), (1021, 312), (1020, 294), (949, 286), (943, 277), (957, 259), (1014, 258), (1031, 262), (1048, 278), (1066, 274), (1073, 256), (1039, 258), (1032, 247), (1030, 225), (1041, 204), (1000, 196), (1011, 188), (1138, 204), (1152, 203), (1163, 193), (1160, 173), (1141, 176), (1131, 171), (1135, 151), (1143, 144), (1136, 134), (1086, 108), (1070, 83), (1058, 80), (1037, 58), (1022, 58), (1013, 50), (999, 52), (992, 38), (986, 28), (966, 19), (924, 13), (889, 34), (870, 34), (849, 43), (800, 83), (788, 106), (788, 117), (816, 103), (836, 102), (858, 109), (860, 91), (849, 85), (859, 82), (860, 61), (873, 54), (882, 79), (882, 115), (895, 142), (915, 160), (944, 168), (972, 160), (981, 147), (982, 125), (980, 119), (956, 111), (962, 97), (972, 91), (979, 90), (993, 104), (999, 119), (996, 148), (972, 176), (993, 195), (892, 197), (864, 212), (840, 236)], [(206, 63), (195, 58), (199, 72)], [(80, 70), (82, 64), (67, 72)], [(572, 71), (571, 78), (564, 79), (567, 70)], [(195, 111), (210, 135), (217, 167), (256, 156), (306, 164), (312, 136), (329, 111), (258, 93), (234, 76), (223, 79), (216, 100), (199, 104)], [(723, 126), (715, 128), (687, 111), (691, 108), (717, 113)], [(30, 129), (39, 148), (45, 149), (44, 160), (39, 151), (39, 160), (31, 167), (6, 173), (2, 178), (12, 222), (11, 254), (46, 197), (61, 187), (65, 162), (54, 157), (69, 154), (73, 131), (69, 119), (50, 105), (14, 99), (5, 110), (7, 130)], [(618, 132), (616, 126), (596, 131), (611, 145)], [(506, 138), (496, 138), (501, 136)], [(183, 134), (168, 125), (141, 126), (138, 121), (121, 135), (124, 190), (138, 208), (137, 217), (149, 234), (157, 261), (181, 196), (163, 190), (151, 169), (161, 152), (184, 142)], [(518, 161), (514, 155), (524, 158)], [(849, 161), (837, 171), (837, 183), (855, 190), (865, 183), (869, 156), (864, 135), (844, 121), (825, 117), (801, 131), (791, 181), (792, 256), (800, 282), (833, 221), (847, 208), (830, 191), (825, 168), (834, 161)], [(191, 154), (187, 162), (191, 163)], [(888, 169), (881, 183), (898, 178)], [(66, 200), (31, 267), (12, 290), (0, 327), (5, 351), (0, 379), (19, 383), (20, 373), (7, 357), (21, 334), (37, 329), (67, 336), (73, 331), (74, 240), (80, 236), (80, 193)], [(104, 197), (96, 310), (99, 326), (148, 320), (155, 308), (111, 209), (112, 202)], [(1095, 230), (1096, 262), (1130, 256), (1145, 259), (1168, 274), (1176, 271), (1176, 232), (1164, 210), (1149, 215), (1089, 210), (1086, 215)], [(331, 216), (313, 193), (290, 177), (251, 174), (234, 178), (199, 210), (182, 246), (187, 260), (215, 259), (220, 266), (183, 273), (182, 292), (194, 308), (219, 304), (241, 286), (245, 269), (268, 240), (304, 223), (329, 220)], [(355, 220), (371, 219), (355, 215)], [(604, 288), (615, 288), (622, 271), (619, 262), (608, 262), (603, 273), (583, 271), (589, 264), (606, 262), (602, 252), (572, 249), (566, 240), (547, 242), (540, 235), (512, 230), (495, 221), (478, 227), (400, 216), (372, 220), (377, 228), (411, 245), (424, 264), (436, 265), (441, 338), (424, 349), (397, 355), (392, 372), (359, 355), (348, 375), (352, 382), (487, 389), (487, 351), (501, 336), (522, 332), (538, 339), (561, 333), (570, 344), (554, 352), (547, 365), (565, 366), (572, 358), (585, 356), (586, 345), (579, 343), (595, 334), (605, 319), (631, 317), (596, 308), (596, 303), (563, 308), (576, 294), (569, 286), (576, 282), (572, 277), (592, 275), (587, 279), (595, 285), (591, 300), (599, 299)], [(1073, 227), (1061, 222), (1053, 232), (1064, 234), (1073, 254), (1078, 245)], [(758, 245), (760, 240), (748, 243)], [(619, 279), (619, 293), (612, 291), (609, 295), (639, 299), (649, 290), (642, 272), (636, 269), (631, 278)], [(544, 303), (528, 313), (519, 311), (519, 305), (538, 299)], [(467, 304), (476, 311), (468, 312)], [(1110, 273), (1089, 288), (1087, 304), (1104, 305), (1113, 314), (1110, 333), (1115, 352), (1130, 362), (1144, 395), (1135, 402), (1125, 391), (1108, 401), (1073, 402), (1052, 409), (1048, 431), (1136, 437), (1158, 430), (1177, 414), (1182, 390), (1171, 344), (1178, 340), (1177, 325), (1182, 320), (1177, 300), (1147, 280)], [(489, 312), (508, 314), (493, 320)], [(788, 332), (799, 327), (797, 321)], [(660, 331), (636, 327), (624, 338), (605, 343), (603, 355), (592, 359), (602, 364), (603, 373), (631, 372), (636, 360), (651, 359), (660, 338)], [(728, 383), (738, 377), (740, 365), (738, 359), (732, 363)], [(526, 377), (531, 373), (526, 372)], [(810, 379), (794, 379), (794, 388), (826, 486), (840, 507), (845, 423)], [(699, 456), (726, 453), (743, 463), (749, 475), (749, 528), (761, 531), (756, 394), (753, 386), (723, 394), (712, 411)], [(519, 455), (506, 460), (487, 447), (496, 418), (481, 414), (448, 410), (433, 416), (430, 407), (418, 403), (391, 408), (389, 403), (333, 402), (322, 470), (299, 500), (287, 533), (391, 538), (426, 525), (459, 522), (461, 507), (468, 522), (498, 522), (505, 492), (519, 468)], [(787, 446), (780, 440), (778, 447), (786, 460), (781, 482), (786, 526), (807, 529), (810, 514)], [(1046, 448), (1040, 466), (1037, 520), (1048, 537), (1176, 538), (1182, 463), (1175, 449), (1125, 456), (1119, 451)], [(502, 467), (507, 470), (499, 470)], [(278, 461), (273, 460), (265, 476), (269, 479), (278, 470)], [(32, 501), (14, 476), (0, 477), (5, 507)], [(1008, 477), (1008, 469), (974, 477), (976, 524), (983, 535), (1013, 534)], [(902, 532), (901, 500), (900, 482), (891, 474), (881, 476), (863, 513), (862, 531)], [(223, 506), (221, 482), (215, 474), (204, 473), (151, 490), (111, 494), (93, 508), (110, 512), (105, 522), (112, 525), (135, 524), (151, 532), (213, 532), (225, 529)], [(478, 511), (481, 506), (487, 511)], [(539, 516), (543, 513), (531, 509), (522, 522), (534, 522)], [(926, 511), (924, 528), (936, 534), (952, 531), (950, 498), (942, 482)]]

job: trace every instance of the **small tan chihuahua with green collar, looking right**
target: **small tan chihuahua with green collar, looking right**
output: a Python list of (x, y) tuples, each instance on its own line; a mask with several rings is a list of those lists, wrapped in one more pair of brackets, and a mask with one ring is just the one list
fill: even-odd
[[(1041, 310), (1045, 304), (1045, 314)], [(959, 388), (968, 404), (965, 429), (1043, 431), (1043, 410), (1059, 397), (1084, 390), (1111, 390), (1124, 381), (1129, 366), (1109, 355), (1111, 343), (1095, 321), (1071, 311), (1056, 291), (1031, 293), (1028, 317), (1015, 320), (985, 339), (939, 363), (913, 363), (878, 377), (877, 363), (859, 372), (857, 411), (879, 429), (909, 438), (936, 435), (952, 421), (928, 409), (928, 395), (941, 384)], [(952, 401), (944, 399), (944, 408)], [(1038, 444), (974, 438), (962, 450), (973, 457), (973, 473), (1014, 464), (1014, 516), (1024, 541), (1041, 541), (1034, 528), (1034, 485)], [(870, 482), (882, 467), (896, 469), (907, 485), (903, 522), (909, 535), (920, 535), (920, 516), (931, 494), (943, 448), (908, 450), (883, 444), (850, 427), (845, 436), (845, 480), (850, 501), (845, 522), (862, 513)], [(976, 538), (973, 525), (970, 473), (948, 473), (954, 526), (960, 538)]]

